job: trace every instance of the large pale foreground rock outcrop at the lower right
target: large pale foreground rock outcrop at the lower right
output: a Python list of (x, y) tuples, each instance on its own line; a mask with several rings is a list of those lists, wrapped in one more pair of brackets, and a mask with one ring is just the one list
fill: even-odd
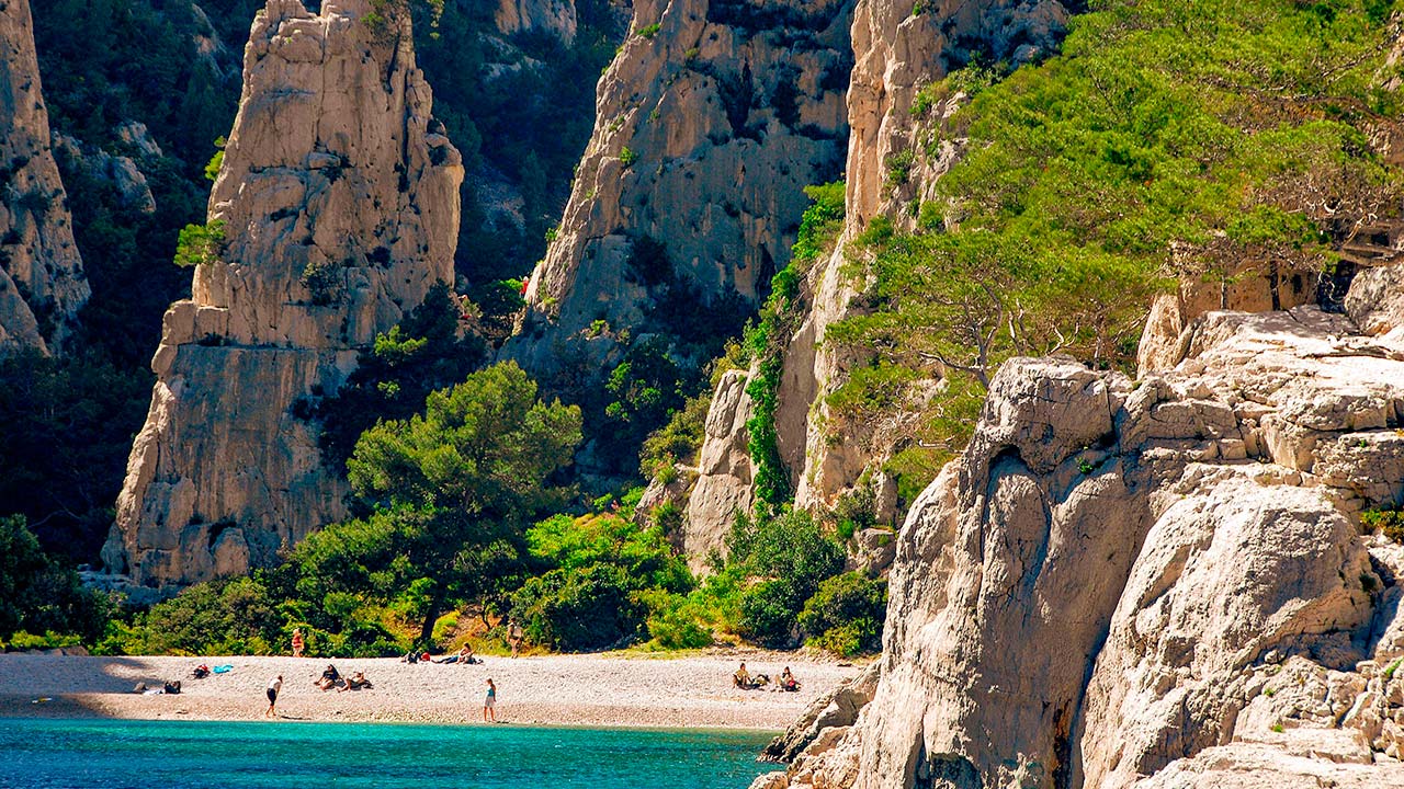
[(1404, 503), (1384, 323), (1212, 312), (1139, 382), (1008, 362), (901, 529), (873, 701), (765, 785), (1404, 785), (1404, 548), (1359, 515)]

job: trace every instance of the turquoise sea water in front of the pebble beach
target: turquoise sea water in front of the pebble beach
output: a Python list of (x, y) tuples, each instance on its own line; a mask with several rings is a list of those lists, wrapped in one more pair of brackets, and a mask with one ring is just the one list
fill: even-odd
[(0, 719), (0, 786), (746, 789), (769, 734)]

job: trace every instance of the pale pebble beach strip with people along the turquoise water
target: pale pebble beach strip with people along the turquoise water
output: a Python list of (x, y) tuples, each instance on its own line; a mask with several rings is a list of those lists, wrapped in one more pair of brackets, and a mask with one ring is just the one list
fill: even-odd
[[(778, 677), (789, 665), (797, 694), (741, 691), (731, 672)], [(191, 679), (201, 663), (229, 674)], [(343, 674), (365, 671), (375, 688), (323, 692), (313, 681), (326, 658), (65, 657), (0, 654), (0, 717), (261, 720), (264, 689), (282, 674), (278, 713), (286, 720), (482, 723), (486, 678), (497, 682), (497, 716), (512, 723), (769, 729), (788, 726), (816, 696), (861, 667), (793, 653), (716, 651), (650, 658), (615, 654), (487, 657), (483, 665), (409, 665), (393, 658), (331, 660)], [(181, 679), (180, 695), (136, 695), (138, 682)], [(35, 699), (49, 701), (35, 703)]]

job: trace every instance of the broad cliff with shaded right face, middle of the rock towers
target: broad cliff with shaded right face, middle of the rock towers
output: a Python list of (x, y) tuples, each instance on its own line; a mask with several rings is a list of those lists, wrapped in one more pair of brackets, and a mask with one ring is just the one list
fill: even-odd
[(667, 327), (664, 285), (691, 289), (691, 309), (760, 299), (789, 260), (803, 187), (842, 164), (851, 10), (847, 0), (635, 4), (508, 355), (538, 375), (583, 357), (598, 373), (622, 331), (649, 319)]

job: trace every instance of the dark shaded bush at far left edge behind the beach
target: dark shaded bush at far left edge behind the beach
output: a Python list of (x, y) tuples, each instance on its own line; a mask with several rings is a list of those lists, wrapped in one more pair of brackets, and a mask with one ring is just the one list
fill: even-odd
[(24, 515), (0, 517), (0, 642), (24, 630), (93, 643), (105, 616), (105, 601), (44, 552)]

